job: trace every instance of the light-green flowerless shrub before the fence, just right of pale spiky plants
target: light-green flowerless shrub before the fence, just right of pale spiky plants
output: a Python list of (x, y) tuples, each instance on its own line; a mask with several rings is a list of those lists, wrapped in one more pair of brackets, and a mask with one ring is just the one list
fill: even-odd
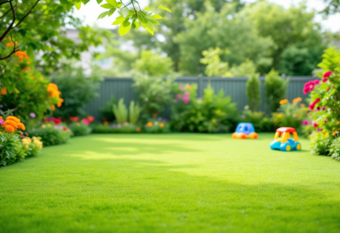
[(174, 77), (152, 77), (137, 75), (134, 77), (134, 88), (139, 94), (139, 103), (149, 116), (156, 118), (165, 106), (171, 103)]

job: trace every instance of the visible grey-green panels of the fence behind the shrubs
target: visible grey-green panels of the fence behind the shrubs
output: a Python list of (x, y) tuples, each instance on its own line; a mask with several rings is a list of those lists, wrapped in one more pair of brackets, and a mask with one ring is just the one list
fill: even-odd
[[(315, 77), (311, 76), (296, 76), (289, 77), (289, 84), (287, 89), (286, 98), (290, 101), (296, 97), (302, 97), (305, 99), (307, 96), (303, 94), (304, 84), (313, 80)], [(198, 97), (202, 97), (204, 89), (208, 85), (208, 80), (210, 80), (212, 88), (214, 88), (215, 93), (223, 89), (224, 94), (231, 96), (232, 101), (237, 103), (237, 107), (243, 110), (245, 105), (248, 105), (248, 99), (246, 97), (246, 82), (248, 78), (238, 77), (238, 78), (219, 78), (219, 77), (180, 77), (176, 79), (178, 83), (196, 83), (198, 85), (197, 94)], [(264, 77), (260, 77), (261, 81), (261, 106), (260, 110), (268, 111), (265, 97), (264, 89)], [(96, 119), (101, 119), (100, 109), (105, 106), (105, 103), (115, 96), (116, 100), (124, 98), (125, 103), (128, 105), (131, 100), (138, 100), (138, 95), (134, 91), (132, 78), (104, 78), (98, 90), (98, 97), (92, 100), (85, 107), (85, 111), (93, 115)], [(166, 111), (165, 117), (169, 117), (169, 111)]]

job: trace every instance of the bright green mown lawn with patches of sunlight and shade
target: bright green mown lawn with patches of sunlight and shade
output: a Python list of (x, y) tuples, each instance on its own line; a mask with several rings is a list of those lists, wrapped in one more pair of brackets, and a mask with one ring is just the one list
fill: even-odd
[(273, 136), (91, 135), (46, 147), (0, 168), (0, 232), (340, 232), (340, 163), (271, 151)]

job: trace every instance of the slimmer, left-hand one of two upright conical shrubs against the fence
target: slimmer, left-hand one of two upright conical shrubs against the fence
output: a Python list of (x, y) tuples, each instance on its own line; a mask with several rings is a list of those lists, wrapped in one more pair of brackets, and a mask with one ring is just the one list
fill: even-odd
[(247, 81), (247, 97), (249, 107), (257, 111), (261, 103), (260, 79), (258, 74), (253, 73)]

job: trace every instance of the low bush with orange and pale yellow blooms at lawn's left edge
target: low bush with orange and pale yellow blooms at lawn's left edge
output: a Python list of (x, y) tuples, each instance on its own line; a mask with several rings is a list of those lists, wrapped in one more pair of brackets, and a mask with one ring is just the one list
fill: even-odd
[(26, 157), (35, 156), (43, 147), (38, 138), (25, 139), (21, 130), (25, 125), (15, 116), (0, 117), (0, 166), (13, 164)]

